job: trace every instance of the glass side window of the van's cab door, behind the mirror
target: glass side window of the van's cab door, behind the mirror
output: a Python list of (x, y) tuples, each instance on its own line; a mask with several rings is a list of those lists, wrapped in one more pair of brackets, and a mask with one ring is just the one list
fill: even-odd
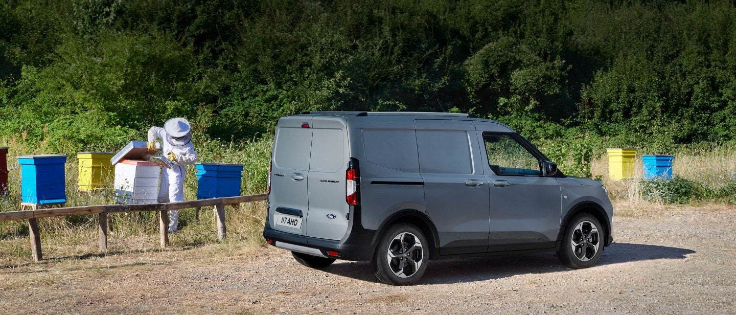
[(497, 175), (541, 176), (539, 160), (511, 135), (483, 133), (488, 165)]

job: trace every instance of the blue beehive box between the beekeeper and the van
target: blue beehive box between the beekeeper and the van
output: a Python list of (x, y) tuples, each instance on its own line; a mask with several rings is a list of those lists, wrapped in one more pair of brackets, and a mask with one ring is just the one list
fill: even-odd
[(196, 163), (197, 199), (240, 196), (242, 164)]

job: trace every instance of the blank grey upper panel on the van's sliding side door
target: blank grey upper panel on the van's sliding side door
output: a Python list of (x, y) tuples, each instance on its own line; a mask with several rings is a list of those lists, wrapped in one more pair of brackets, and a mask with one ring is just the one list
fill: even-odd
[(470, 138), (465, 131), (417, 130), (422, 173), (473, 174)]

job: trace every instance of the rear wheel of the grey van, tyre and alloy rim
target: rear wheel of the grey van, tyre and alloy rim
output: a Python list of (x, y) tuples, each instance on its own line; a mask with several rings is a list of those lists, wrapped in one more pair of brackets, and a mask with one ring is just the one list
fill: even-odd
[(393, 224), (378, 242), (371, 267), (373, 275), (386, 284), (416, 283), (427, 269), (429, 244), (412, 224)]

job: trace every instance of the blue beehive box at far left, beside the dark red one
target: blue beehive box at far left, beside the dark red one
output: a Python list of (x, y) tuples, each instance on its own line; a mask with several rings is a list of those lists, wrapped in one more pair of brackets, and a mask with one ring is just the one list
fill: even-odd
[(26, 155), (21, 164), (21, 202), (54, 205), (66, 202), (66, 155)]

